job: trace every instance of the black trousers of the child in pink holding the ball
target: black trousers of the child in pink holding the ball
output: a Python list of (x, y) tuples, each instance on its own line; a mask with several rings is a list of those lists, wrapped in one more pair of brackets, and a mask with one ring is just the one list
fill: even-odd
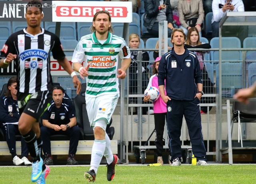
[(154, 113), (155, 119), (155, 131), (156, 131), (156, 155), (162, 157), (164, 153), (164, 143), (163, 143), (163, 134), (164, 134), (164, 125), (165, 125), (165, 113)]

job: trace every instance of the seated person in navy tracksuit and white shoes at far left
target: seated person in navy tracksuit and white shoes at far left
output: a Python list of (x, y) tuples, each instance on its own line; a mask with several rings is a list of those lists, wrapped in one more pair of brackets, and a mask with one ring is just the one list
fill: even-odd
[(0, 97), (0, 123), (3, 123), (4, 132), (6, 133), (6, 142), (12, 154), (14, 165), (31, 165), (28, 161), (28, 148), (24, 138), (21, 138), (21, 157), (16, 154), (16, 137), (20, 134), (18, 129), (18, 121), (20, 118), (18, 102), (17, 102), (17, 78), (12, 77), (8, 80), (7, 91)]

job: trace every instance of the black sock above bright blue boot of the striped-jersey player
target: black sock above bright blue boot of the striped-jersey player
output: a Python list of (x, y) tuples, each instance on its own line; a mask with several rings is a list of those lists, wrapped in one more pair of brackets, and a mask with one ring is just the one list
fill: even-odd
[(27, 143), (28, 151), (32, 157), (32, 161), (40, 161), (39, 154), (37, 154), (38, 151), (38, 145), (36, 141), (36, 134), (33, 130), (30, 130), (26, 135), (22, 135), (24, 140)]

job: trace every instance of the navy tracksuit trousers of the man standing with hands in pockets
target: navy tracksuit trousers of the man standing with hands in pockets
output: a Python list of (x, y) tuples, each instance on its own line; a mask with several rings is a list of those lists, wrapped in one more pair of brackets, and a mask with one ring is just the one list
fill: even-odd
[(183, 115), (188, 126), (188, 134), (192, 144), (193, 154), (198, 160), (207, 161), (206, 149), (202, 134), (199, 99), (192, 101), (169, 100), (167, 102), (167, 129), (171, 148), (172, 161), (182, 157), (180, 135)]

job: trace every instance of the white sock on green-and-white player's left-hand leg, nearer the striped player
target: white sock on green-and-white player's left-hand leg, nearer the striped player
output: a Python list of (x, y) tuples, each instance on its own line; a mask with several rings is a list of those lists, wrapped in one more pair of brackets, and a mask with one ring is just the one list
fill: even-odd
[(94, 139), (94, 143), (92, 145), (92, 157), (91, 157), (91, 168), (90, 170), (94, 170), (97, 173), (98, 167), (100, 165), (102, 156), (104, 154), (104, 150), (106, 147), (105, 140), (96, 140)]

